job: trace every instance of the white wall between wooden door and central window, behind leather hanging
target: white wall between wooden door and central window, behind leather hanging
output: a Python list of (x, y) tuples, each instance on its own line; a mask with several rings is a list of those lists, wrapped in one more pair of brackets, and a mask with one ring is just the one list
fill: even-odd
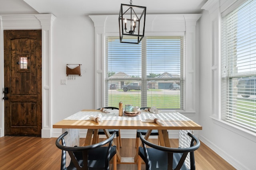
[[(94, 25), (88, 16), (57, 17), (52, 30), (53, 123), (81, 109), (94, 109)], [(82, 76), (67, 80), (66, 64), (82, 64)]]

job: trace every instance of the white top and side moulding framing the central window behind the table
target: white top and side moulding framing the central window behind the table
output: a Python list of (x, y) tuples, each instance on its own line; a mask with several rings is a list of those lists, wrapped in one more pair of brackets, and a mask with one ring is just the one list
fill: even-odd
[[(148, 14), (146, 16), (145, 35), (177, 35), (183, 33), (185, 35), (185, 57), (184, 63), (184, 111), (197, 112), (198, 108), (198, 92), (196, 86), (199, 82), (198, 70), (198, 48), (196, 48), (196, 22), (202, 14)], [(95, 108), (104, 106), (105, 104), (105, 35), (107, 33), (118, 35), (118, 15), (98, 15), (89, 16), (94, 22), (95, 27)], [(164, 26), (163, 26), (164, 25)], [(175, 25), (175, 26), (174, 26)]]

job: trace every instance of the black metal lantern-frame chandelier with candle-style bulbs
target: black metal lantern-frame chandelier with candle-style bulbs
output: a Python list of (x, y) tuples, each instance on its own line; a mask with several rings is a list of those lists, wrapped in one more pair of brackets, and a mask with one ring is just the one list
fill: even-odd
[(121, 4), (119, 12), (120, 43), (139, 44), (144, 37), (146, 7)]

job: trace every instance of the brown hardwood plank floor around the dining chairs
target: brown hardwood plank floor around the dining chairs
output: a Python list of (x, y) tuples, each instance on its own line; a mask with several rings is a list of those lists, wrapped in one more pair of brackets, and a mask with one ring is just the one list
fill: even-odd
[[(84, 138), (80, 139), (80, 143)], [(100, 139), (102, 140), (102, 139)], [(2, 137), (0, 138), (0, 170), (59, 170), (61, 150), (55, 146), (56, 138)], [(157, 144), (157, 139), (150, 139)], [(170, 139), (178, 147), (178, 139)], [(122, 139), (122, 157), (135, 155), (135, 139)], [(204, 143), (195, 152), (197, 170), (235, 170)], [(118, 170), (137, 170), (136, 164), (118, 164)], [(142, 165), (145, 170), (145, 165)]]

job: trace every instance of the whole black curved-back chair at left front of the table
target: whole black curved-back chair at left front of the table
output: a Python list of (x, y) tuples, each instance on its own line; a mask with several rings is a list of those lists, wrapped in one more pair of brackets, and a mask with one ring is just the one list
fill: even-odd
[[(109, 170), (110, 160), (113, 158), (113, 166), (116, 169), (116, 146), (112, 146), (116, 131), (105, 141), (84, 147), (66, 146), (64, 137), (68, 132), (63, 133), (56, 139), (56, 146), (62, 150), (61, 170)], [(60, 144), (61, 141), (61, 144)], [(107, 147), (102, 147), (107, 145)], [(71, 158), (70, 164), (66, 167), (66, 151)]]

